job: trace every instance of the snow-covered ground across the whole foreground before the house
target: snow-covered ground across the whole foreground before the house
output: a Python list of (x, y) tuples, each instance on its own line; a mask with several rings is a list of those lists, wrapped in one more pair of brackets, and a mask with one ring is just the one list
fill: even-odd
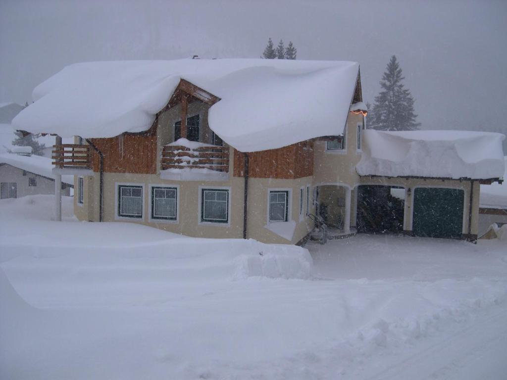
[(500, 379), (505, 242), (307, 248), (0, 201), (0, 378)]

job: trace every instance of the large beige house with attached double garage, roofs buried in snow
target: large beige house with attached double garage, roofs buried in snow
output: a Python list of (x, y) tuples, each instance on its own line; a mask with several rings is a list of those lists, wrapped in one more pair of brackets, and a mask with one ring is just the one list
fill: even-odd
[(76, 136), (53, 171), (76, 176), (81, 220), (272, 243), (475, 240), (480, 184), (503, 176), (501, 134), (366, 130), (356, 62), (81, 63), (33, 98), (13, 125)]

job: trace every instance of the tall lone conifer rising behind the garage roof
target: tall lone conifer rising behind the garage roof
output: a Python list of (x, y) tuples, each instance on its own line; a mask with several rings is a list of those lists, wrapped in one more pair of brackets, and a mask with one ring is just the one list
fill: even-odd
[(382, 75), (382, 91), (375, 97), (373, 115), (369, 117), (369, 127), (382, 131), (413, 131), (421, 123), (416, 123), (414, 98), (404, 88), (400, 64), (392, 56)]

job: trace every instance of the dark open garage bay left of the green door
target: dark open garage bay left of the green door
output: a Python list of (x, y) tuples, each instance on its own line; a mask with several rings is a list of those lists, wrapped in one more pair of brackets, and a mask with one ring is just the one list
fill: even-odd
[(397, 186), (357, 187), (357, 232), (398, 234), (403, 232), (405, 189)]

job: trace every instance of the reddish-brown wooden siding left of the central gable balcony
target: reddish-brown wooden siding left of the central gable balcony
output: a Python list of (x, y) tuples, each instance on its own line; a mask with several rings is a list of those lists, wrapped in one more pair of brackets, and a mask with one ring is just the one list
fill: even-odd
[[(104, 157), (104, 172), (156, 174), (157, 135), (154, 129), (152, 127), (146, 134), (124, 133), (111, 138), (91, 139)], [(96, 152), (93, 155), (93, 171), (99, 171), (99, 156)]]

